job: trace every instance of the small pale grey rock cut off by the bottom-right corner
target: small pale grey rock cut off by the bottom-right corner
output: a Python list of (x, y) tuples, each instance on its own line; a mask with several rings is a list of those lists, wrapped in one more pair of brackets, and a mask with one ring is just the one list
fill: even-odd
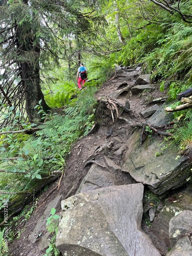
[(192, 246), (188, 236), (181, 238), (166, 256), (191, 256)]

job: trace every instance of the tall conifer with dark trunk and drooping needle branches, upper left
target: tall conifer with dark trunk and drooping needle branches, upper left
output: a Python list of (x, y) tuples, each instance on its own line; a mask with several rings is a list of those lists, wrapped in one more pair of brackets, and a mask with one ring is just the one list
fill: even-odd
[[(86, 13), (80, 11), (82, 4)], [(31, 122), (40, 118), (34, 108), (39, 102), (44, 111), (50, 110), (41, 91), (40, 69), (49, 67), (50, 59), (62, 58), (65, 36), (91, 36), (94, 25), (99, 27), (102, 17), (95, 5), (89, 0), (0, 1), (2, 106), (6, 103), (13, 114), (19, 110), (20, 116), (26, 111)]]

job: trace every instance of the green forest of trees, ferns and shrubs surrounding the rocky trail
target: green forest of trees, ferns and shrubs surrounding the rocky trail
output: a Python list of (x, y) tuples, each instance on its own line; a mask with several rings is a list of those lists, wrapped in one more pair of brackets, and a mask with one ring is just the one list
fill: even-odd
[[(95, 124), (94, 98), (115, 65), (142, 65), (168, 88), (167, 105), (191, 88), (190, 1), (0, 1), (0, 213), (9, 218), (65, 173), (71, 147)], [(88, 69), (78, 91), (79, 62)], [(134, 66), (135, 65), (135, 66)], [(191, 110), (174, 112), (172, 143), (191, 152)], [(34, 133), (35, 132), (35, 136)], [(15, 209), (17, 209), (15, 211)], [(3, 237), (3, 215), (1, 237)], [(0, 246), (1, 247), (1, 246)]]

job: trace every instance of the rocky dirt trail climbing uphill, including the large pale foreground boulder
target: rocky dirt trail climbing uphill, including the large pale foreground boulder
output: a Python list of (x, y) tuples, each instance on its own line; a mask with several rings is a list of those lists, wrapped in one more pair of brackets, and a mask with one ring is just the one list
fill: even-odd
[[(166, 255), (168, 245), (165, 241), (141, 222), (145, 186), (133, 179), (129, 172), (122, 171), (124, 156), (129, 148), (127, 141), (136, 129), (129, 122), (147, 121), (152, 112), (145, 113), (145, 118), (141, 113), (157, 102), (161, 106), (164, 101), (157, 101), (157, 98), (166, 96), (159, 92), (157, 86), (149, 84), (149, 76), (141, 80), (139, 76), (139, 70), (117, 67), (116, 76), (105, 82), (96, 93), (98, 125), (93, 133), (74, 145), (59, 189), (54, 189), (57, 181), (36, 202), (32, 217), (24, 225), (18, 224), (17, 228), (22, 227), (24, 232), (10, 245), (11, 255), (40, 256), (45, 253), (50, 238), (46, 231), (46, 219), (53, 207), (61, 212), (62, 200), (65, 200), (62, 210), (66, 205), (74, 205), (70, 215), (63, 216), (63, 223), (59, 226), (56, 244), (63, 255)], [(143, 88), (137, 88), (137, 83)], [(113, 99), (116, 100), (115, 105)], [(127, 107), (127, 102), (132, 114), (122, 108)], [(127, 208), (130, 209), (129, 218)], [(70, 226), (70, 221), (66, 225), (68, 220), (76, 224)], [(63, 231), (66, 231), (67, 244), (62, 240)], [(115, 248), (114, 244), (117, 245)]]

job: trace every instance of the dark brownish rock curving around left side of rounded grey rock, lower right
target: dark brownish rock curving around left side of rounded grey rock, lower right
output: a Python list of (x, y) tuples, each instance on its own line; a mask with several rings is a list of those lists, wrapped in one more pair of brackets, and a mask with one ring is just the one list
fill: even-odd
[(173, 207), (170, 205), (164, 206), (152, 223), (152, 232), (158, 239), (163, 241), (168, 248), (170, 248), (169, 221), (175, 215), (180, 214), (181, 212), (181, 208)]

